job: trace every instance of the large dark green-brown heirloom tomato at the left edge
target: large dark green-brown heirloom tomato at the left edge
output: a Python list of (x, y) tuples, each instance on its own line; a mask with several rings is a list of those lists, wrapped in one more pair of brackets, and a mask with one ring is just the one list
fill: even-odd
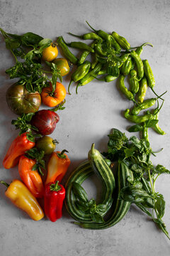
[(24, 85), (16, 82), (6, 91), (6, 102), (15, 114), (21, 115), (37, 112), (41, 97), (39, 92), (28, 92)]

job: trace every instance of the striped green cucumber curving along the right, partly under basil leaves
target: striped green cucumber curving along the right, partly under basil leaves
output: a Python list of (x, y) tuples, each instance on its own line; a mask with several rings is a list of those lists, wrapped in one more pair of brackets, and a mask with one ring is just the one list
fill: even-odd
[(126, 215), (126, 213), (128, 213), (128, 210), (130, 209), (130, 202), (128, 201), (124, 201), (120, 198), (118, 198), (118, 195), (120, 193), (120, 190), (127, 186), (128, 183), (128, 178), (132, 178), (132, 171), (130, 171), (128, 169), (128, 166), (126, 166), (125, 163), (120, 162), (118, 163), (118, 194), (117, 194), (117, 198), (115, 201), (115, 207), (113, 209), (113, 214), (111, 215), (111, 217), (106, 220), (105, 223), (99, 223), (99, 224), (95, 224), (95, 223), (75, 223), (77, 225), (80, 225), (81, 228), (87, 228), (87, 229), (94, 229), (94, 230), (98, 230), (98, 229), (105, 229), (105, 228), (110, 228), (113, 225), (115, 225), (116, 223), (118, 223), (120, 220), (123, 219), (123, 217)]

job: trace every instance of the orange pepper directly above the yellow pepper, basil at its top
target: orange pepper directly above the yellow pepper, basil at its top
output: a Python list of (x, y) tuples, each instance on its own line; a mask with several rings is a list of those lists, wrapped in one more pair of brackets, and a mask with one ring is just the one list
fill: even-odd
[(18, 171), (23, 183), (26, 184), (33, 196), (35, 196), (35, 198), (42, 198), (44, 195), (44, 186), (38, 171), (32, 171), (35, 164), (35, 160), (28, 159), (26, 156), (21, 156), (19, 159)]

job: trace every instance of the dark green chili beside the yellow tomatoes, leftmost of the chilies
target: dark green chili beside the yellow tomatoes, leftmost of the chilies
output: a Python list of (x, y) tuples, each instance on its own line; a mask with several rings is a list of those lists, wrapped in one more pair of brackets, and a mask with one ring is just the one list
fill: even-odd
[(73, 64), (77, 64), (78, 58), (74, 56), (73, 53), (71, 53), (67, 45), (64, 43), (62, 36), (59, 36), (57, 38), (57, 45), (60, 46), (60, 48), (62, 49), (62, 53), (64, 57), (67, 58), (67, 60), (69, 60)]

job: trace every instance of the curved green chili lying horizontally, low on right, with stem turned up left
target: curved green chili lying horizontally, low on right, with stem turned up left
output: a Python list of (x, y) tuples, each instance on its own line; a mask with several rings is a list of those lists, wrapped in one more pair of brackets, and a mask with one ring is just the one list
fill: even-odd
[(129, 109), (125, 110), (125, 118), (128, 119), (130, 122), (134, 122), (135, 124), (141, 124), (142, 122), (146, 122), (147, 120), (154, 119), (154, 114), (144, 114), (142, 116), (136, 116), (129, 113)]

